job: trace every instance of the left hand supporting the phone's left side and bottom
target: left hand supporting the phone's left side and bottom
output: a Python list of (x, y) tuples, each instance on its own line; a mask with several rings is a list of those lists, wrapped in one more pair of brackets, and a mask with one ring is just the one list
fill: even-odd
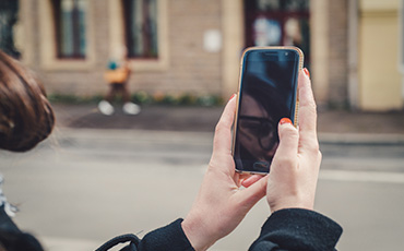
[(216, 240), (230, 234), (250, 208), (265, 195), (266, 179), (254, 176), (246, 189), (239, 189), (242, 178), (235, 172), (231, 156), (231, 125), (236, 111), (233, 97), (219, 119), (213, 154), (201, 189), (182, 229), (197, 250), (206, 250)]

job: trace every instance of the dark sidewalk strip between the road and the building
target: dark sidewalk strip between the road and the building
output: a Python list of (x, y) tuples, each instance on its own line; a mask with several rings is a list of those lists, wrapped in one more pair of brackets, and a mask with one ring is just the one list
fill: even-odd
[[(116, 106), (112, 116), (102, 115), (96, 105), (52, 104), (57, 127), (70, 129), (118, 129), (213, 132), (223, 107), (144, 106), (136, 116)], [(404, 144), (404, 111), (321, 111), (318, 131), (324, 141), (401, 142)]]

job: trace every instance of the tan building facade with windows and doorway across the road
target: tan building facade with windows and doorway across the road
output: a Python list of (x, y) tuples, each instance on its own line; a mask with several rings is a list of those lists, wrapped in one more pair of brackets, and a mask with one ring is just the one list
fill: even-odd
[(21, 60), (49, 93), (107, 92), (127, 48), (131, 92), (228, 97), (247, 46), (297, 45), (322, 107), (403, 109), (401, 0), (20, 0)]

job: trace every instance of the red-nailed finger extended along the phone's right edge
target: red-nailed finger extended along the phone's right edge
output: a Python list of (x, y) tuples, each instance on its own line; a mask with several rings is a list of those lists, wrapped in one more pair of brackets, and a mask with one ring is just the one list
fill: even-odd
[(306, 141), (306, 139), (317, 139), (317, 106), (307, 69), (299, 72), (298, 85), (300, 138), (302, 141)]

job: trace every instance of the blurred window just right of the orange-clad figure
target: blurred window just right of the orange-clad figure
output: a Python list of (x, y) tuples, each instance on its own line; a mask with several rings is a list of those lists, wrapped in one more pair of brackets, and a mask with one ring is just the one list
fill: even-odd
[(158, 58), (157, 1), (122, 0), (129, 58)]

